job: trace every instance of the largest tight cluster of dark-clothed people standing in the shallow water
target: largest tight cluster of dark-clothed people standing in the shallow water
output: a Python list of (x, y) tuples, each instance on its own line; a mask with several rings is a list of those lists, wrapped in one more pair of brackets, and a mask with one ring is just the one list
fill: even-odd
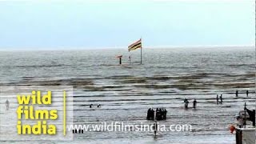
[(154, 116), (154, 109), (150, 108), (147, 110), (146, 119), (147, 120), (165, 120), (166, 119), (167, 110), (164, 108), (157, 108), (155, 110), (155, 116)]

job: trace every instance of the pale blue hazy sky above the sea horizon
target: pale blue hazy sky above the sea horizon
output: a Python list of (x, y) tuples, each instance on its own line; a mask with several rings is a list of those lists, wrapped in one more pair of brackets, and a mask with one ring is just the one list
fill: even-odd
[(0, 50), (254, 45), (254, 1), (0, 1)]

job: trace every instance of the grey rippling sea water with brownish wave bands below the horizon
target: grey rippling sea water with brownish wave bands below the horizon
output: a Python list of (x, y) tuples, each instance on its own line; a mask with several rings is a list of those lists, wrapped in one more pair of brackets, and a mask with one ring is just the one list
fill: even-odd
[[(123, 55), (121, 66), (118, 54)], [(148, 131), (90, 131), (74, 134), (75, 143), (235, 142), (228, 129), (234, 115), (244, 102), (255, 107), (254, 48), (145, 48), (142, 56), (140, 65), (140, 50), (1, 51), (0, 86), (74, 86), (74, 124), (153, 124), (146, 111), (164, 107), (167, 119), (159, 124), (193, 126), (157, 137)], [(223, 95), (222, 104), (216, 103), (216, 94)], [(196, 98), (198, 108), (184, 110), (184, 98), (190, 107)], [(1, 98), (1, 105), (5, 101)]]

